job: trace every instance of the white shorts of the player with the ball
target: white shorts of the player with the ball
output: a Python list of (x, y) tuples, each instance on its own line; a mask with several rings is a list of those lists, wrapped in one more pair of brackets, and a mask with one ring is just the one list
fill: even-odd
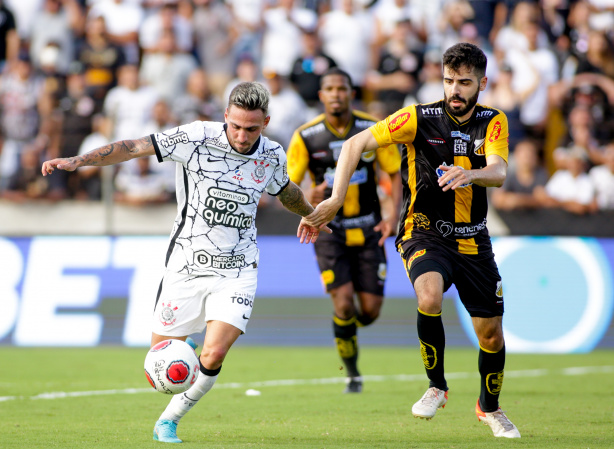
[(153, 314), (152, 332), (184, 337), (202, 332), (207, 321), (223, 321), (245, 333), (252, 314), (257, 269), (238, 278), (193, 276), (167, 271)]

